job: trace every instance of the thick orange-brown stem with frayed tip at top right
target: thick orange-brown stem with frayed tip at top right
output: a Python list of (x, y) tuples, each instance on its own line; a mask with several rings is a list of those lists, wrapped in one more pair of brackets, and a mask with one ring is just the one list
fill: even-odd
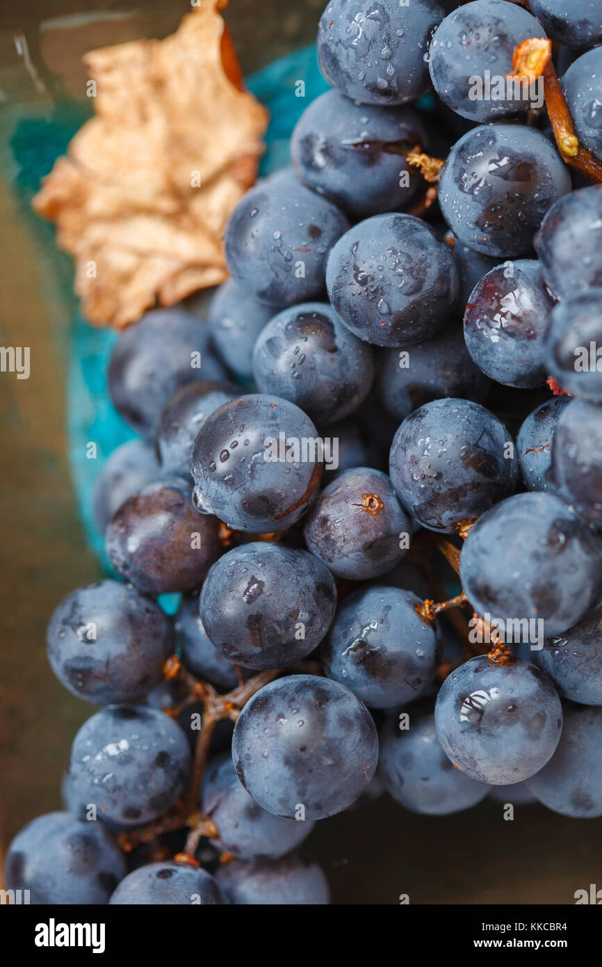
[(552, 41), (543, 37), (530, 37), (518, 44), (512, 57), (512, 68), (512, 73), (508, 75), (510, 77), (526, 77), (530, 82), (543, 77), (543, 96), (560, 158), (585, 174), (590, 181), (601, 183), (602, 161), (598, 161), (579, 142), (552, 60)]

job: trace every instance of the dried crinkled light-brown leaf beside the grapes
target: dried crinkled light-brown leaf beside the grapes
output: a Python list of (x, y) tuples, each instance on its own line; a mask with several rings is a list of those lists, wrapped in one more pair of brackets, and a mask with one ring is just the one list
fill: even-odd
[(221, 236), (253, 184), (268, 113), (244, 91), (218, 7), (163, 41), (86, 54), (96, 114), (33, 201), (75, 260), (95, 325), (121, 328), (227, 276)]

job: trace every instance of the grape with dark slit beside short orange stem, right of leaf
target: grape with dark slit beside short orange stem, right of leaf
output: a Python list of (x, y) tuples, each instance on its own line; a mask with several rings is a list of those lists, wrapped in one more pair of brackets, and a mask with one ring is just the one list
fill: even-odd
[(354, 103), (330, 90), (301, 114), (291, 156), (301, 181), (359, 220), (400, 211), (412, 199), (420, 177), (405, 155), (416, 145), (427, 148), (412, 108)]

